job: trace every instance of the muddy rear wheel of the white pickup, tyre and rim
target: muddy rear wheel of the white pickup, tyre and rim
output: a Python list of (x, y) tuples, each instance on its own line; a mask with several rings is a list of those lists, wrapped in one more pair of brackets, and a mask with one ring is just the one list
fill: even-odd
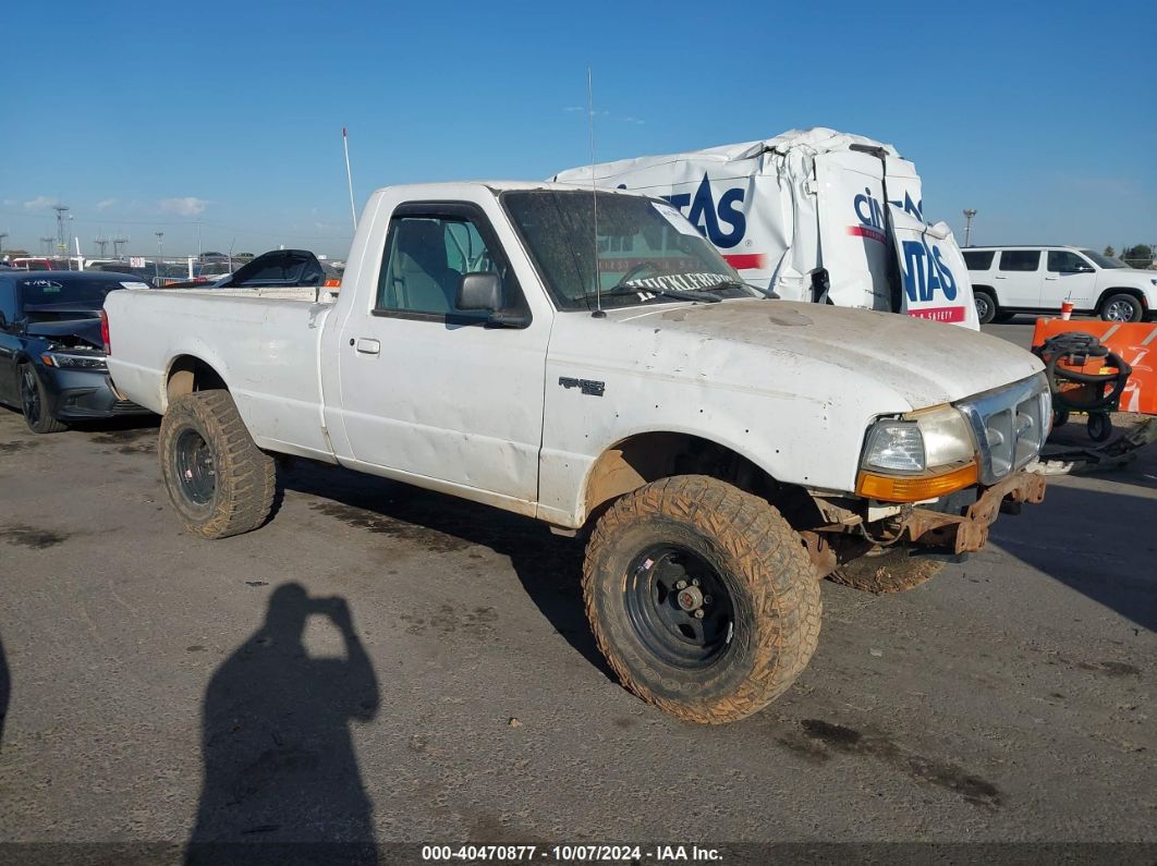
[(277, 465), (253, 443), (228, 391), (170, 402), (159, 444), (169, 498), (190, 532), (223, 539), (268, 518)]

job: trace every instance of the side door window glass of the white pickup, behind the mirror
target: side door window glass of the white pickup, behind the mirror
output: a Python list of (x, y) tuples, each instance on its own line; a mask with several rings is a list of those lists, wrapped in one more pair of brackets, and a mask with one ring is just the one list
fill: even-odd
[(376, 309), (485, 317), (455, 306), (464, 274), (499, 272), (478, 227), (463, 217), (399, 216), (390, 222)]

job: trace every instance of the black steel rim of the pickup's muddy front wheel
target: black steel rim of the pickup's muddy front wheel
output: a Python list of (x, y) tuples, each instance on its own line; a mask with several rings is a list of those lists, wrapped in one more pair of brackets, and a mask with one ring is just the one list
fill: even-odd
[(626, 605), (635, 636), (675, 667), (708, 667), (728, 651), (735, 605), (718, 570), (680, 545), (653, 545), (632, 560)]

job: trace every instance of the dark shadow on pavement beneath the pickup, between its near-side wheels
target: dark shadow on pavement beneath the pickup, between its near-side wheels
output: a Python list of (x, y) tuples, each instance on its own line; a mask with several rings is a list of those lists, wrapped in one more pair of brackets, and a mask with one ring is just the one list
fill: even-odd
[(331, 499), (333, 506), (319, 510), (352, 526), (411, 539), (433, 550), (445, 550), (449, 536), (450, 547), (459, 540), (507, 556), (554, 630), (618, 682), (587, 623), (581, 541), (552, 535), (537, 520), (508, 511), (333, 466), (295, 460), (282, 475), (286, 488)]

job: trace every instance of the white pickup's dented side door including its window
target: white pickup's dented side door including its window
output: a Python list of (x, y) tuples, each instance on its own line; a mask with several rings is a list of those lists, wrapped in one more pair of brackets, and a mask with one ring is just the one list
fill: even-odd
[(488, 327), (484, 313), (455, 306), (463, 274), (477, 272), (500, 274), (508, 302), (522, 299), (479, 205), (401, 205), (384, 234), (381, 264), (370, 265), (376, 274), (363, 276), (376, 276), (376, 286), (358, 287), (339, 341), (353, 458), (532, 511), (550, 321)]

